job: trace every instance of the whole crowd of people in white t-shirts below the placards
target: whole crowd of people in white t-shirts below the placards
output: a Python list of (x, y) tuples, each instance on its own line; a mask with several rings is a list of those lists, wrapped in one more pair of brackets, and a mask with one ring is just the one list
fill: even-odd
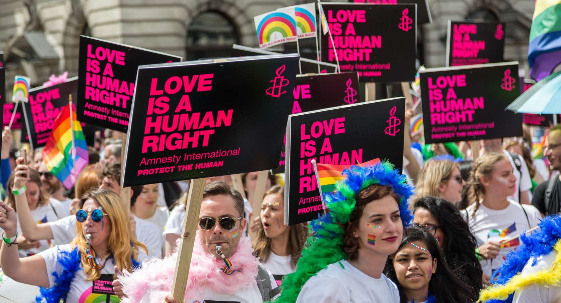
[[(324, 193), (328, 211), (307, 223), (284, 225), (284, 174), (269, 175), (263, 197), (256, 172), (241, 176), (241, 192), (231, 176), (208, 178), (185, 302), (561, 302), (559, 279), (528, 278), (561, 262), (561, 125), (482, 140), (475, 159), (473, 142), (422, 144), (406, 133), (405, 167), (350, 167)], [(123, 202), (120, 135), (89, 147), (66, 189), (40, 149), (24, 159), (3, 130), (0, 267), (12, 282), (0, 295), (177, 302), (190, 181), (134, 186)], [(548, 242), (535, 244), (532, 229)]]

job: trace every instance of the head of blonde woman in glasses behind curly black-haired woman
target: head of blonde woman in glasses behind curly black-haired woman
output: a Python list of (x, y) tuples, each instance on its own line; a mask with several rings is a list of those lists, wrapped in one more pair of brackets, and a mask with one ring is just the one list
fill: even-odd
[(415, 199), (432, 196), (455, 204), (462, 201), (462, 189), (466, 182), (456, 162), (436, 157), (422, 167), (416, 185)]

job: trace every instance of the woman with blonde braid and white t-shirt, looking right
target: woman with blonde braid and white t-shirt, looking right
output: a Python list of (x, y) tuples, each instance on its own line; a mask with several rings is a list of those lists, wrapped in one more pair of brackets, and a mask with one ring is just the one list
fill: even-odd
[(467, 186), (472, 204), (465, 215), (479, 245), (485, 285), (508, 252), (519, 245), (519, 239), (513, 238), (535, 227), (541, 215), (534, 206), (508, 199), (516, 190), (516, 176), (503, 153), (490, 152), (477, 159)]

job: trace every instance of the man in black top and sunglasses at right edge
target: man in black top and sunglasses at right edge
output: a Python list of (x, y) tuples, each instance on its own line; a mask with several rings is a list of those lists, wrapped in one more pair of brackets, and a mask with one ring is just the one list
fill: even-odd
[[(545, 146), (542, 148), (548, 158), (550, 171), (561, 171), (561, 124), (549, 129)], [(561, 175), (553, 173), (549, 180), (537, 185), (532, 197), (532, 205), (544, 216), (560, 213)]]

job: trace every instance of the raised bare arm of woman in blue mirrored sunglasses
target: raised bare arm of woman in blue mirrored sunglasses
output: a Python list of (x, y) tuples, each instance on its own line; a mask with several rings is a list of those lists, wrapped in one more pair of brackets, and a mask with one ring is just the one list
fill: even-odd
[[(4, 230), (3, 237), (8, 241), (15, 241), (17, 234), (17, 218), (13, 208), (0, 202), (0, 228)], [(47, 265), (40, 255), (21, 258), (17, 253), (16, 244), (6, 244), (0, 249), (0, 264), (6, 276), (13, 280), (29, 285), (49, 287)]]

